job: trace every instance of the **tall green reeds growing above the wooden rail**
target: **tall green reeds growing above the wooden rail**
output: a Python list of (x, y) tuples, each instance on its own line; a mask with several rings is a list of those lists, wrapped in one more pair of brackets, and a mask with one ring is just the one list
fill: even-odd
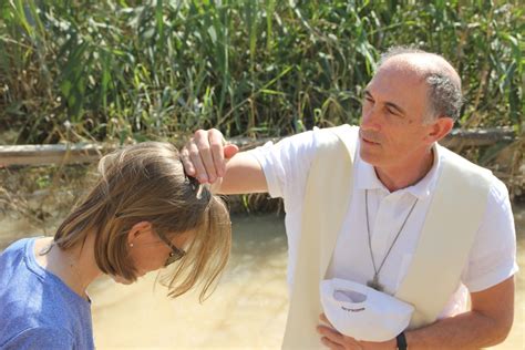
[(519, 1), (6, 0), (0, 127), (13, 143), (279, 136), (356, 123), (379, 53), (457, 68), (457, 126), (522, 130)]

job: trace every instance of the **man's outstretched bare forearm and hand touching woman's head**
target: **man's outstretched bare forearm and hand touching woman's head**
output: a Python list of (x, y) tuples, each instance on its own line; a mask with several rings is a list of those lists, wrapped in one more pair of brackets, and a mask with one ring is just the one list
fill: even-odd
[(186, 173), (202, 184), (213, 184), (214, 193), (268, 192), (259, 162), (249, 153), (237, 152), (237, 146), (226, 144), (218, 130), (199, 130), (181, 151), (181, 158)]

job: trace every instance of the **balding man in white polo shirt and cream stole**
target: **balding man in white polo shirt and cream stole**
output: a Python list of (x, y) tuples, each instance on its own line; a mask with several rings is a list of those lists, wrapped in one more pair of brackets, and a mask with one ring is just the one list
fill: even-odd
[[(317, 337), (330, 349), (481, 348), (506, 338), (517, 271), (507, 189), (436, 144), (452, 130), (461, 103), (461, 81), (449, 62), (398, 48), (383, 55), (364, 91), (359, 128), (306, 132), (239, 154), (223, 146), (218, 131), (198, 131), (184, 147), (186, 172), (214, 191), (284, 197), (291, 294), (284, 348), (319, 348), (311, 312), (301, 310), (322, 312), (312, 289), (333, 277), (394, 296), (415, 312), (404, 332), (380, 342), (344, 336), (321, 315)], [(350, 161), (322, 163), (339, 144), (349, 145)], [(312, 173), (325, 182), (316, 183)], [(331, 207), (319, 191), (325, 186)], [(330, 189), (337, 186), (340, 194)], [(311, 209), (316, 196), (322, 205)], [(341, 207), (343, 215), (333, 216)], [(340, 226), (321, 224), (321, 233), (308, 233), (321, 237), (319, 247), (308, 247), (306, 223), (315, 227), (325, 216), (328, 226)], [(337, 244), (323, 250), (330, 230)]]

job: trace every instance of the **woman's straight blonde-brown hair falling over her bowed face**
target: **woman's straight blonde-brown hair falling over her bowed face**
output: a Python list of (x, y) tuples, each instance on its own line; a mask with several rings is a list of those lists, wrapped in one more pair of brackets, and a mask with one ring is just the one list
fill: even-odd
[(140, 222), (169, 239), (194, 233), (186, 255), (163, 281), (177, 297), (197, 284), (203, 301), (228, 260), (231, 224), (224, 202), (207, 189), (197, 198), (198, 183), (184, 173), (178, 151), (168, 143), (145, 142), (117, 150), (99, 163), (100, 178), (89, 195), (60, 225), (56, 245), (69, 249), (95, 235), (99, 268), (136, 280), (128, 258), (127, 234)]

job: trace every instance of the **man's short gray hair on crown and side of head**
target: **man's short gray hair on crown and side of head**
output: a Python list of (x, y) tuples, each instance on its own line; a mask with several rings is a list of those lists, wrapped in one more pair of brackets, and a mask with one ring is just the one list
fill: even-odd
[[(435, 53), (410, 47), (393, 47), (381, 54), (378, 70), (392, 56), (406, 53), (432, 54), (446, 62), (443, 56)], [(452, 80), (450, 72), (436, 66), (434, 70), (424, 72), (423, 76), (429, 86), (429, 103), (425, 121), (432, 121), (442, 116), (452, 117), (454, 121), (457, 120), (463, 105), (463, 95), (461, 93), (461, 86)]]

